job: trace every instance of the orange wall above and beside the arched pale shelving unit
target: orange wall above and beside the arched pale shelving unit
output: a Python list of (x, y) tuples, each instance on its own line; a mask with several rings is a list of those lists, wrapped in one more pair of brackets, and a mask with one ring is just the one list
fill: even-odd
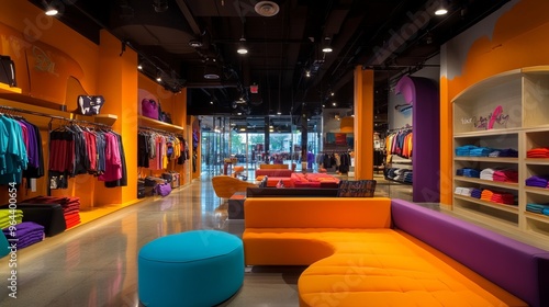
[[(451, 100), (485, 78), (507, 70), (549, 64), (549, 1), (522, 0), (497, 20), (491, 37), (477, 37), (460, 62), (461, 73), (440, 80), (441, 203), (451, 204)], [(471, 31), (466, 34), (472, 33)], [(455, 38), (459, 39), (459, 37)], [(453, 55), (448, 53), (447, 57)], [(442, 59), (442, 66), (445, 65)]]

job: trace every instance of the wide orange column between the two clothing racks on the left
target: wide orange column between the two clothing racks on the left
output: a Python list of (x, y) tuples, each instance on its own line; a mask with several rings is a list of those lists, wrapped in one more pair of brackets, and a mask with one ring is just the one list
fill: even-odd
[(127, 204), (137, 200), (137, 53), (107, 31), (101, 31), (99, 56), (99, 92), (105, 104), (101, 113), (117, 116), (113, 125), (122, 136), (127, 186), (107, 189), (96, 184), (94, 204)]

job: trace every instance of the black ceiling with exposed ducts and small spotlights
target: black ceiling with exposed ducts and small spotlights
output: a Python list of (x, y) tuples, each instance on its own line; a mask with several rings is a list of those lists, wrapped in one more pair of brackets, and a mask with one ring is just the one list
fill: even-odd
[[(440, 44), (508, 0), (449, 0), (445, 16), (433, 14), (442, 0), (273, 0), (274, 16), (259, 15), (255, 0), (53, 2), (65, 3), (59, 19), (90, 39), (108, 29), (127, 42), (145, 73), (161, 71), (167, 89), (188, 88), (189, 114), (301, 117), (333, 101), (350, 107), (357, 66), (374, 69), (377, 112), (386, 112), (388, 80), (421, 68)], [(242, 37), (244, 56), (236, 53)], [(334, 52), (324, 54), (327, 41)], [(205, 70), (220, 79), (204, 79)]]

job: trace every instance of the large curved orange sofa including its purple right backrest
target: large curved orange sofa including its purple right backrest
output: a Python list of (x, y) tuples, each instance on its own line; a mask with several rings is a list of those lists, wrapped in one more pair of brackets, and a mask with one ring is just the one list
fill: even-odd
[(549, 252), (415, 204), (247, 198), (244, 211), (247, 265), (309, 265), (300, 306), (548, 306)]

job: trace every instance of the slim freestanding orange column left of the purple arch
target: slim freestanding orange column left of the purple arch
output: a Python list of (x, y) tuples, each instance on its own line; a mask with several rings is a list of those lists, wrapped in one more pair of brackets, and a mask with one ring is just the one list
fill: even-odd
[(373, 179), (373, 70), (355, 68), (355, 179)]

